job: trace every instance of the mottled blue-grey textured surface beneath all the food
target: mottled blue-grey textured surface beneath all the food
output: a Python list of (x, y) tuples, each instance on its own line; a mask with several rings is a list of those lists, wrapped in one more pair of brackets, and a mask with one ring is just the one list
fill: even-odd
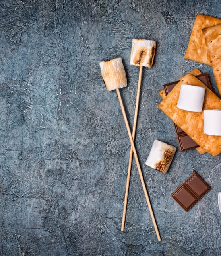
[[(157, 109), (162, 85), (194, 68), (184, 59), (198, 13), (221, 18), (220, 1), (0, 1), (0, 255), (220, 255), (221, 157), (177, 152), (169, 172), (145, 166), (154, 139), (178, 147)], [(99, 61), (122, 57), (130, 125), (139, 68), (132, 38), (157, 41), (143, 69), (136, 145), (162, 242), (133, 163), (120, 231), (130, 143)], [(192, 170), (211, 191), (188, 213), (170, 197)]]

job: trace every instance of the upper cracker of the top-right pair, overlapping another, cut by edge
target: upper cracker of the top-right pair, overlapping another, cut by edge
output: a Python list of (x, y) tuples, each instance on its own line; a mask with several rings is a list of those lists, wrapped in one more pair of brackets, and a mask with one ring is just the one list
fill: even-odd
[(221, 95), (221, 24), (202, 29), (202, 32), (215, 81)]

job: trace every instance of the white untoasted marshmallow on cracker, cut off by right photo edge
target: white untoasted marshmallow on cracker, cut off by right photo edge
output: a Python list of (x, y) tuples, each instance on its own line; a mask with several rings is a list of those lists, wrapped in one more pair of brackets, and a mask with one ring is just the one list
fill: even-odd
[(221, 136), (221, 110), (204, 110), (204, 134)]

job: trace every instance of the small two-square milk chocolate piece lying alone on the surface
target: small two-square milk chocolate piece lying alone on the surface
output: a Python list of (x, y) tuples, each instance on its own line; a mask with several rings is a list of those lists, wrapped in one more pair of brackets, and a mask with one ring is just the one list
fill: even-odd
[(185, 211), (189, 211), (209, 190), (210, 186), (194, 171), (171, 196)]

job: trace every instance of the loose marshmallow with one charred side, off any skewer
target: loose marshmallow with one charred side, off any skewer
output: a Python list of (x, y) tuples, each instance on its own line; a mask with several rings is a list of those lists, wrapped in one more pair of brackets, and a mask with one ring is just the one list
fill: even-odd
[(171, 165), (175, 152), (175, 147), (155, 140), (147, 158), (146, 165), (159, 172), (166, 173)]

